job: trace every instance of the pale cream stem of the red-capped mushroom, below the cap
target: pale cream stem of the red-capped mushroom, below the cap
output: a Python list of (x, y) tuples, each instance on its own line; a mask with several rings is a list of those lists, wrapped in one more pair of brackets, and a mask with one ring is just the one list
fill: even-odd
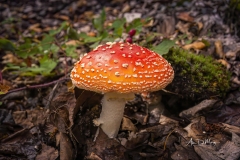
[(134, 99), (134, 93), (109, 92), (102, 99), (102, 112), (93, 122), (100, 126), (109, 138), (118, 134), (127, 101)]

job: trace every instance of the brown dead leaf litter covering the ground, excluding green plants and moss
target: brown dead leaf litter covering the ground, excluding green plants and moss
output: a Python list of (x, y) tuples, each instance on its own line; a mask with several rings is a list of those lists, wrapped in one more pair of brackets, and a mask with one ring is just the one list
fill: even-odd
[[(45, 106), (46, 97), (48, 96), (42, 92), (49, 93), (50, 89), (38, 91), (37, 94), (39, 95), (35, 99), (33, 98), (34, 95), (32, 95), (33, 93), (36, 95), (34, 91), (10, 93), (2, 98), (5, 108), (0, 110), (0, 158), (238, 159), (240, 157), (239, 40), (237, 38), (236, 40), (235, 36), (230, 36), (230, 32), (236, 32), (236, 30), (230, 30), (223, 22), (223, 19), (216, 14), (216, 10), (213, 13), (211, 12), (214, 5), (218, 5), (219, 10), (224, 10), (226, 5), (218, 1), (199, 1), (198, 3), (193, 1), (184, 2), (184, 7), (179, 7), (176, 3), (175, 5), (173, 3), (168, 6), (169, 8), (164, 8), (163, 5), (162, 8), (160, 7), (163, 12), (158, 13), (157, 9), (151, 8), (152, 4), (149, 2), (141, 1), (140, 4), (137, 4), (135, 1), (128, 3), (120, 0), (111, 3), (122, 3), (124, 7), (114, 10), (112, 14), (108, 15), (110, 18), (120, 14), (119, 12), (123, 12), (125, 16), (127, 15), (128, 21), (132, 21), (131, 18), (134, 16), (141, 18), (144, 15), (154, 15), (155, 21), (149, 23), (149, 30), (155, 29), (159, 33), (166, 33), (162, 37), (159, 36), (155, 41), (156, 44), (159, 44), (159, 41), (166, 44), (164, 45), (165, 48), (161, 46), (164, 43), (160, 43), (156, 47), (156, 50), (161, 50), (159, 52), (167, 53), (175, 43), (183, 46), (183, 48), (193, 49), (198, 54), (211, 55), (212, 53), (216, 59), (221, 60), (221, 63), (226, 64), (228, 70), (232, 71), (232, 91), (229, 91), (224, 99), (216, 100), (209, 97), (209, 99), (197, 101), (191, 104), (190, 108), (182, 108), (179, 115), (169, 115), (162, 112), (162, 108), (164, 110), (168, 109), (165, 106), (160, 106), (159, 102), (161, 101), (157, 101), (157, 105), (154, 105), (159, 96), (157, 93), (153, 93), (155, 96), (149, 98), (136, 95), (136, 99), (126, 105), (125, 117), (116, 139), (108, 139), (101, 129), (98, 131), (98, 128), (93, 126), (93, 119), (97, 118), (101, 111), (101, 94), (79, 89), (75, 89), (73, 93), (60, 85), (57, 93), (53, 95), (49, 108), (45, 108), (43, 106)], [(153, 1), (153, 3), (155, 7), (160, 6), (157, 1)], [(50, 4), (53, 5), (54, 2), (50, 2)], [(37, 3), (36, 10), (45, 5), (47, 5), (45, 2)], [(62, 10), (64, 5), (68, 9)], [(79, 22), (85, 26), (90, 26), (89, 22), (81, 15), (89, 15), (86, 16), (88, 18), (92, 17), (94, 15), (93, 11), (98, 12), (99, 8), (101, 8), (99, 5), (96, 1), (89, 4), (86, 1), (69, 1), (59, 5), (58, 8), (51, 8), (51, 6), (47, 5), (48, 10), (42, 10), (39, 11), (39, 14), (36, 14), (31, 4), (28, 4), (20, 14), (24, 20), (23, 24), (19, 25), (20, 22), (17, 20), (9, 19), (8, 21), (14, 21), (19, 25), (18, 30), (20, 32), (24, 31), (25, 36), (29, 35), (31, 31), (35, 31), (37, 36), (41, 36), (42, 32), (58, 26), (61, 20), (68, 21), (71, 19), (71, 16), (66, 15), (72, 15), (73, 13), (77, 13), (72, 15), (75, 20), (73, 22), (74, 26), (79, 26)], [(4, 15), (8, 15), (10, 12), (5, 8), (12, 6), (17, 6), (17, 4), (14, 2), (3, 5)], [(90, 6), (95, 6), (95, 8)], [(199, 10), (184, 11), (185, 8), (198, 8), (199, 6), (203, 7), (200, 7)], [(83, 9), (78, 10), (78, 7)], [(171, 7), (180, 10), (180, 12), (177, 12), (176, 18), (175, 15), (166, 14), (168, 10), (172, 11)], [(88, 11), (88, 8), (92, 9), (92, 11)], [(136, 9), (130, 13), (133, 8)], [(149, 10), (151, 10), (151, 13)], [(55, 12), (58, 13), (53, 14)], [(102, 20), (108, 18), (105, 16), (109, 12), (106, 15), (98, 13)], [(42, 19), (46, 15), (48, 15), (48, 18), (41, 20), (44, 23), (39, 23), (38, 19)], [(103, 31), (101, 27), (98, 27), (102, 25), (103, 21), (101, 19), (95, 22), (95, 27), (100, 32)], [(85, 26), (80, 26), (79, 30), (83, 30)], [(9, 24), (4, 24), (4, 28), (1, 28), (1, 34), (6, 35), (8, 33), (6, 37), (17, 40), (17, 34), (15, 34), (17, 32), (11, 30), (13, 28)], [(28, 29), (25, 30), (25, 28)], [(94, 30), (91, 27), (89, 28), (88, 33), (93, 38), (88, 40), (93, 42), (98, 40), (95, 37)], [(143, 30), (143, 32), (148, 31)], [(208, 33), (211, 35), (208, 35)], [(176, 42), (172, 40), (173, 37), (181, 34), (185, 34), (185, 38), (180, 38)], [(236, 32), (237, 34), (239, 32)], [(202, 38), (194, 39), (195, 36), (205, 37), (203, 40)], [(163, 40), (165, 38), (170, 38), (171, 41), (166, 42)], [(14, 51), (13, 44), (2, 39), (1, 41), (0, 50), (2, 44), (7, 43), (7, 45), (4, 45), (7, 47), (6, 49), (10, 52)], [(208, 47), (206, 41), (212, 44), (212, 47)], [(75, 42), (72, 41), (71, 43)], [(43, 45), (43, 47), (46, 46)], [(54, 45), (52, 49), (56, 49)], [(24, 53), (21, 54), (25, 56)], [(22, 62), (22, 59), (18, 59), (11, 53), (6, 54), (3, 59), (11, 60), (11, 63), (15, 64)], [(28, 64), (31, 64), (31, 61)], [(44, 62), (42, 65), (44, 65)], [(52, 67), (48, 68), (46, 66), (45, 68), (49, 70)], [(35, 72), (40, 71), (35, 70)], [(6, 76), (4, 75), (3, 78), (5, 80)], [(15, 87), (16, 84), (39, 83), (44, 81), (42, 78), (36, 76), (25, 81), (21, 78), (12, 78), (14, 79), (12, 85)], [(10, 86), (12, 87), (12, 85)], [(8, 85), (3, 84), (1, 89), (3, 92), (7, 92), (9, 88)], [(170, 108), (174, 102), (181, 100), (180, 96), (171, 93), (163, 93), (162, 96), (163, 98), (169, 98), (169, 100), (163, 99), (162, 103), (170, 106)], [(172, 110), (174, 109), (170, 109), (170, 112)]]

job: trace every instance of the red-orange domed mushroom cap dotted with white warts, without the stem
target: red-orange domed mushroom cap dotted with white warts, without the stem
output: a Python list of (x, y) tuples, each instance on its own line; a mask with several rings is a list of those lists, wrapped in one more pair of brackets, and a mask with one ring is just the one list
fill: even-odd
[(79, 60), (71, 72), (78, 88), (100, 93), (157, 91), (172, 82), (174, 71), (159, 54), (136, 44), (108, 42)]

